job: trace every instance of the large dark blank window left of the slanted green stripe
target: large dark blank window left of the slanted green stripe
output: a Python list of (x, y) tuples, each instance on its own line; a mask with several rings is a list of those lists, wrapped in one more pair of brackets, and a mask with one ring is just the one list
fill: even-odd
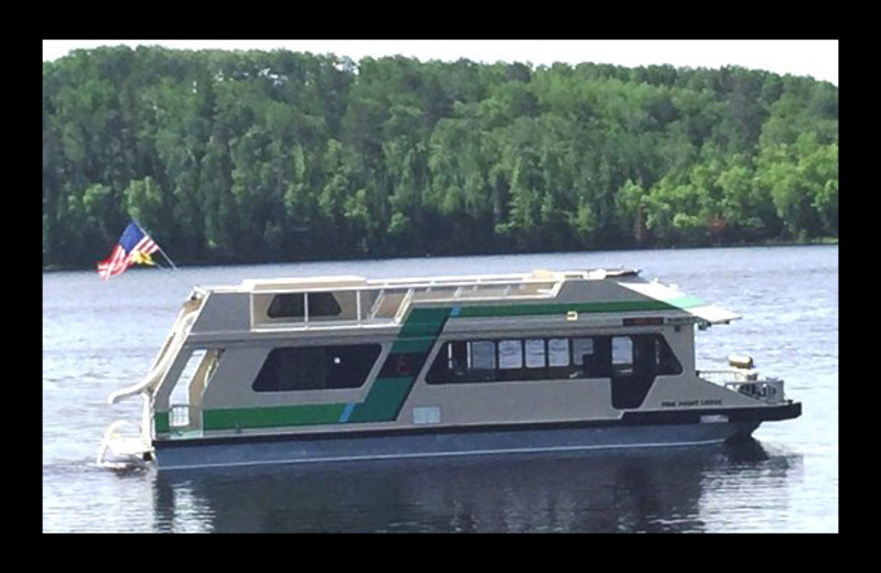
[(359, 388), (379, 354), (379, 344), (274, 348), (252, 388), (257, 392)]

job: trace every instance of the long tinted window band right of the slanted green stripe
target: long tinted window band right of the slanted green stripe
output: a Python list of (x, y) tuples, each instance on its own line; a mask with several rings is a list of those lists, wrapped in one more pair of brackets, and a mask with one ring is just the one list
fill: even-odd
[(438, 352), (428, 383), (589, 378), (653, 379), (682, 374), (659, 334), (453, 340)]

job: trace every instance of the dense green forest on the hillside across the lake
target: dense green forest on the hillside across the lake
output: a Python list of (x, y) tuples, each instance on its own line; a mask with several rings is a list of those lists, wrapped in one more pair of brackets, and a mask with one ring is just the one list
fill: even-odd
[(838, 88), (739, 67), (289, 51), (43, 64), (43, 266), (838, 237)]

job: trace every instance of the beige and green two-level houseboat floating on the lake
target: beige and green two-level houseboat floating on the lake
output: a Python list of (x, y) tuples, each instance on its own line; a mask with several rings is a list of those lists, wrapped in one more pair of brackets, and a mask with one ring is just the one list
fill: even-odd
[(732, 312), (637, 270), (196, 286), (101, 465), (160, 471), (676, 446), (801, 415), (749, 357), (698, 371)]

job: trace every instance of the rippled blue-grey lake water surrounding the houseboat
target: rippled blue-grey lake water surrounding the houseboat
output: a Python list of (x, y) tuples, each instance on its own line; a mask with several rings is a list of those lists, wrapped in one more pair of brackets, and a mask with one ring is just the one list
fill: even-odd
[[(107, 394), (140, 379), (193, 284), (635, 267), (743, 315), (698, 368), (748, 354), (803, 415), (754, 441), (568, 455), (275, 466), (164, 477), (97, 467)], [(44, 532), (837, 532), (838, 247), (751, 247), (43, 274)]]

